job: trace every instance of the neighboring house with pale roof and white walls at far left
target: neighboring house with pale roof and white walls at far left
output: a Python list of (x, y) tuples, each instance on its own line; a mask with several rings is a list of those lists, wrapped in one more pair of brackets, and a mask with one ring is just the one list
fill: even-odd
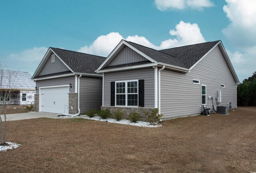
[(8, 104), (34, 104), (36, 84), (31, 81), (31, 75), (28, 72), (3, 70), (1, 72), (1, 78), (0, 104), (3, 104), (4, 93), (11, 94), (6, 98)]

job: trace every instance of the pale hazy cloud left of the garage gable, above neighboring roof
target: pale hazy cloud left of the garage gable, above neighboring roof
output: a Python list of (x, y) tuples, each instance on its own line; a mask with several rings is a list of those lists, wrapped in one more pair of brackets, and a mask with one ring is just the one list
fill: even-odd
[(1, 63), (9, 69), (27, 71), (33, 75), (47, 50), (46, 47), (34, 47), (20, 53), (12, 53), (7, 57), (1, 57)]

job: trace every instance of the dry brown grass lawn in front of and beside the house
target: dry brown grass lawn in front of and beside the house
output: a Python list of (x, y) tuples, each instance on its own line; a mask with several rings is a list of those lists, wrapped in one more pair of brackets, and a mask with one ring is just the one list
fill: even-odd
[(85, 119), (8, 122), (1, 172), (256, 171), (256, 108), (142, 128)]

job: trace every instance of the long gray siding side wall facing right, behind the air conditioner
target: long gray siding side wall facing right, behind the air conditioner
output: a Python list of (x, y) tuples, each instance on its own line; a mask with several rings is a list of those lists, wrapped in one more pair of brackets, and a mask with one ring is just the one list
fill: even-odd
[[(200, 84), (193, 84), (192, 80), (200, 80)], [(224, 84), (225, 88), (220, 85)], [(236, 82), (224, 59), (219, 46), (216, 46), (204, 57), (190, 73), (179, 73), (164, 69), (161, 71), (161, 114), (163, 118), (196, 115), (201, 113), (201, 87), (206, 85), (206, 104), (209, 107), (208, 96), (215, 98), (217, 90), (222, 90), (222, 102), (227, 106), (232, 102), (236, 108)], [(212, 101), (210, 100), (212, 110)]]

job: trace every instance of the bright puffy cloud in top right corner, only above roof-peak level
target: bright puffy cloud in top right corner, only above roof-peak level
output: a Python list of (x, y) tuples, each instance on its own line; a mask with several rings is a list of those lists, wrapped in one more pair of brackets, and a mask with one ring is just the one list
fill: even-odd
[(222, 33), (237, 47), (256, 45), (256, 1), (255, 0), (226, 0), (223, 6), (230, 24), (222, 29)]

